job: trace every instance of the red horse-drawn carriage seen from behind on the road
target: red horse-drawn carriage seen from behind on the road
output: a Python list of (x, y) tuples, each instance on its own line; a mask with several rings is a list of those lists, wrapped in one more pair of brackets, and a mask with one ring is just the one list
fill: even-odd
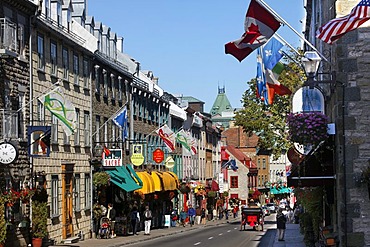
[[(263, 211), (260, 207), (250, 207), (242, 209), (242, 220), (240, 224), (240, 230), (245, 230), (245, 226), (248, 224), (253, 227), (253, 230), (263, 231)], [(243, 229), (244, 228), (244, 229)]]

